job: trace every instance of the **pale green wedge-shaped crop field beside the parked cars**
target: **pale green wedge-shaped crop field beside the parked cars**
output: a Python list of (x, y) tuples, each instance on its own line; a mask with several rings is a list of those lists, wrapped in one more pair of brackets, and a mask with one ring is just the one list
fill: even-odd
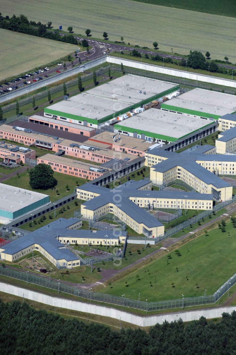
[(0, 80), (72, 53), (76, 46), (51, 39), (0, 29)]

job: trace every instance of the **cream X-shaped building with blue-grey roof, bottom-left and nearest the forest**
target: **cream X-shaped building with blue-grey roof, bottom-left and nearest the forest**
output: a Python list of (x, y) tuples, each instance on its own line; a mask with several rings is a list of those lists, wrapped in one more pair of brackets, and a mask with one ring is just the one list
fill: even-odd
[(113, 231), (77, 230), (82, 221), (77, 218), (60, 218), (15, 241), (0, 247), (0, 258), (14, 262), (25, 255), (39, 251), (57, 268), (78, 267), (82, 258), (70, 251), (66, 245), (109, 245), (125, 242), (127, 233)]

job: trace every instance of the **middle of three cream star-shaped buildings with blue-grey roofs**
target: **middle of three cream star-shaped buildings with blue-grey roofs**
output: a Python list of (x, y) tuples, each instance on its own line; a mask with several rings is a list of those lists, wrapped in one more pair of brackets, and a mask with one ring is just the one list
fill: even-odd
[(212, 194), (203, 195), (185, 191), (151, 191), (151, 182), (140, 180), (129, 182), (113, 190), (93, 184), (77, 187), (77, 197), (85, 200), (81, 204), (84, 219), (97, 220), (108, 213), (114, 214), (139, 234), (147, 237), (164, 235), (164, 226), (146, 209), (185, 208), (212, 209)]

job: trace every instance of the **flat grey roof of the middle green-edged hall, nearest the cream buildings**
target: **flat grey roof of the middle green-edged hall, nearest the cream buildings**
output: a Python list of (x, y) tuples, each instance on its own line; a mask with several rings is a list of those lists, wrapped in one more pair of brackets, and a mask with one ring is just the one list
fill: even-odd
[[(171, 101), (170, 101), (171, 102)], [(180, 138), (191, 132), (202, 129), (211, 122), (201, 118), (187, 115), (175, 114), (172, 112), (149, 109), (127, 120), (121, 121), (119, 126), (130, 127), (134, 131), (141, 130), (171, 138)], [(115, 124), (118, 127), (118, 124)]]

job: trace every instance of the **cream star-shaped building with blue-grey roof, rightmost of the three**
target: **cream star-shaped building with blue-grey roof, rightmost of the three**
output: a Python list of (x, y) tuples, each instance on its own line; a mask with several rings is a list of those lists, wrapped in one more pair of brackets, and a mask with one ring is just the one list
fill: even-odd
[[(212, 194), (216, 201), (232, 198), (232, 186), (219, 178), (218, 174), (234, 174), (236, 156), (197, 154), (194, 152), (171, 153), (153, 149), (149, 164), (153, 184), (166, 185), (182, 180), (200, 193)], [(162, 157), (163, 154), (163, 157)]]

